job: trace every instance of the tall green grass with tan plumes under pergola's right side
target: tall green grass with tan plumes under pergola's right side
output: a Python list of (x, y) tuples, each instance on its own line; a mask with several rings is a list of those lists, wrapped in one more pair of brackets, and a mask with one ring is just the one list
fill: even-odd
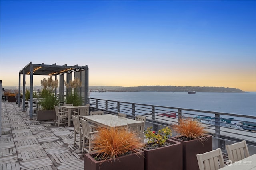
[(75, 78), (73, 81), (70, 80), (68, 83), (64, 81), (65, 86), (67, 87), (67, 95), (65, 98), (66, 104), (73, 104), (74, 106), (82, 105), (82, 98), (78, 93), (78, 88), (82, 86), (82, 82), (79, 78)]

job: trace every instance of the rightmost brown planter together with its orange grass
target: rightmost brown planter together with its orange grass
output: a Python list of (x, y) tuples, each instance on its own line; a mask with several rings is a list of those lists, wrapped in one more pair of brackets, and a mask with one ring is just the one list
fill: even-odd
[(197, 119), (179, 119), (172, 127), (177, 136), (171, 139), (183, 144), (183, 170), (199, 170), (196, 154), (212, 150), (212, 136)]

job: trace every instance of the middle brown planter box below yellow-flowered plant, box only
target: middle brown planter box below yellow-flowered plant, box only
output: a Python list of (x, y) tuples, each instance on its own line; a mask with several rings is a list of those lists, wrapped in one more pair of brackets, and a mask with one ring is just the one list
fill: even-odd
[(145, 170), (182, 170), (182, 143), (168, 139), (172, 143), (157, 149), (142, 149), (145, 152)]

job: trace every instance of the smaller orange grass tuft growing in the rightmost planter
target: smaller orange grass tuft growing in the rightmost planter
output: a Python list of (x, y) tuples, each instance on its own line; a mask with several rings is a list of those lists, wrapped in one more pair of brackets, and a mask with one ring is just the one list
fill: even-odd
[(187, 140), (200, 139), (206, 135), (206, 130), (198, 120), (179, 119), (179, 124), (173, 125), (172, 128), (178, 135), (182, 135)]

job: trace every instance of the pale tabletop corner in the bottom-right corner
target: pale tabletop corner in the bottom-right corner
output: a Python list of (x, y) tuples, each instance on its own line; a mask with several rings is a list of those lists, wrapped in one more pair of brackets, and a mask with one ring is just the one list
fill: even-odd
[(256, 154), (220, 168), (219, 170), (256, 170)]

